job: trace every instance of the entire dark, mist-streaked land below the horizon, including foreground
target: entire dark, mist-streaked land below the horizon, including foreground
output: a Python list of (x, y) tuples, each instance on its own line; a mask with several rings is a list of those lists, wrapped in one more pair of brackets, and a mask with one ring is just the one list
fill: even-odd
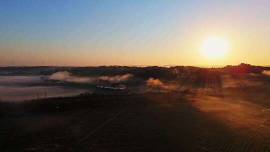
[(268, 151), (269, 71), (244, 63), (2, 67), (0, 149)]

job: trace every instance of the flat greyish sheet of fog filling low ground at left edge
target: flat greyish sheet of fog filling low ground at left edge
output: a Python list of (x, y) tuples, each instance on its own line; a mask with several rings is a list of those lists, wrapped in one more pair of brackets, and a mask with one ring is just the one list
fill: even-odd
[(48, 85), (40, 76), (0, 76), (0, 99), (18, 101), (26, 99), (72, 96), (92, 89), (72, 88), (64, 85)]

